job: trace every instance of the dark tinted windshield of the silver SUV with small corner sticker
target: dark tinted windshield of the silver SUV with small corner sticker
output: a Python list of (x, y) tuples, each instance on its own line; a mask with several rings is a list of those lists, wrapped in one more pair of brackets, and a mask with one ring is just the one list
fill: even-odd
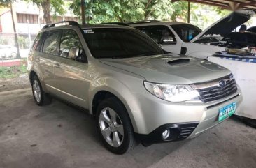
[(136, 29), (94, 28), (83, 31), (90, 52), (97, 59), (163, 54), (159, 45)]

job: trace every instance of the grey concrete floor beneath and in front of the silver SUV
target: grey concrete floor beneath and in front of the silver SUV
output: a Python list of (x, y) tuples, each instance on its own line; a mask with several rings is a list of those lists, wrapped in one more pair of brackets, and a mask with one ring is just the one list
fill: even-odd
[(38, 107), (28, 89), (1, 92), (0, 167), (256, 167), (256, 129), (229, 119), (192, 140), (114, 155), (86, 112), (58, 100)]

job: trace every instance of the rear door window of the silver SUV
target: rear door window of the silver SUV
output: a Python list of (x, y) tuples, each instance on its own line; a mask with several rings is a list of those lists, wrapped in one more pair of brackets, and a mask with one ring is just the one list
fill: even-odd
[(44, 33), (43, 52), (46, 54), (59, 55), (60, 31), (47, 31)]

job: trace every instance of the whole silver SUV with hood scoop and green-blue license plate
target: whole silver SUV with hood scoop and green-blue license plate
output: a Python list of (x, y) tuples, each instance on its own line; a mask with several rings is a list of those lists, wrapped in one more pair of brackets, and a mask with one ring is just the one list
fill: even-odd
[(37, 105), (57, 96), (89, 109), (113, 153), (192, 138), (239, 110), (232, 73), (214, 63), (164, 54), (129, 26), (46, 25), (28, 57)]

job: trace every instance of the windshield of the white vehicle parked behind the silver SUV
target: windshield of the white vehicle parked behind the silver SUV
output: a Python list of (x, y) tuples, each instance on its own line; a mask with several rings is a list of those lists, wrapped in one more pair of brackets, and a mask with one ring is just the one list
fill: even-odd
[(201, 29), (192, 24), (175, 24), (171, 28), (184, 42), (190, 42), (195, 36), (201, 33)]

